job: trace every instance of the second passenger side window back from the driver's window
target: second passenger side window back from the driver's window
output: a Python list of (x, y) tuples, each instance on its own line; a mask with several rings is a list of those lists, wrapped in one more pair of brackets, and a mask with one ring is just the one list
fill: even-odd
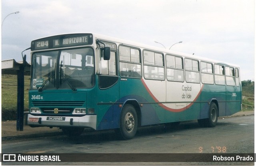
[(144, 77), (150, 80), (165, 80), (164, 55), (152, 51), (144, 51)]

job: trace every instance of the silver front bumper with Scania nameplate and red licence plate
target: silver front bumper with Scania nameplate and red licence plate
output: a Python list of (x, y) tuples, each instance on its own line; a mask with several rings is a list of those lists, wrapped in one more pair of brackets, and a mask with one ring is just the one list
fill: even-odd
[(96, 130), (97, 115), (82, 117), (34, 116), (28, 114), (28, 125), (31, 127), (89, 127)]

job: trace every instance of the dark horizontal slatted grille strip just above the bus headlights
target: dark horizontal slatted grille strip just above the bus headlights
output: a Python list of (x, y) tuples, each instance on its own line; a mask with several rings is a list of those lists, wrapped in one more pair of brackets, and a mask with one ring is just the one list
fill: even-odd
[(84, 101), (33, 101), (34, 107), (82, 107)]

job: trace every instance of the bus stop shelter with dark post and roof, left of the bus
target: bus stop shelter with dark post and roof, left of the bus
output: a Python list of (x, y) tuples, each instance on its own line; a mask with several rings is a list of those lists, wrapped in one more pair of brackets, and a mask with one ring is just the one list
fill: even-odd
[(24, 120), (24, 75), (30, 76), (30, 64), (26, 62), (26, 56), (22, 62), (14, 59), (2, 61), (2, 74), (17, 75), (17, 131), (23, 131)]

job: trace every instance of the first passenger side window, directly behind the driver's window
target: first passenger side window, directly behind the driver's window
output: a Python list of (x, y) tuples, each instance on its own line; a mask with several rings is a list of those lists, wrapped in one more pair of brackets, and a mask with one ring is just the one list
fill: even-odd
[(119, 46), (119, 70), (120, 76), (141, 78), (142, 77), (142, 64), (140, 60), (140, 50)]

